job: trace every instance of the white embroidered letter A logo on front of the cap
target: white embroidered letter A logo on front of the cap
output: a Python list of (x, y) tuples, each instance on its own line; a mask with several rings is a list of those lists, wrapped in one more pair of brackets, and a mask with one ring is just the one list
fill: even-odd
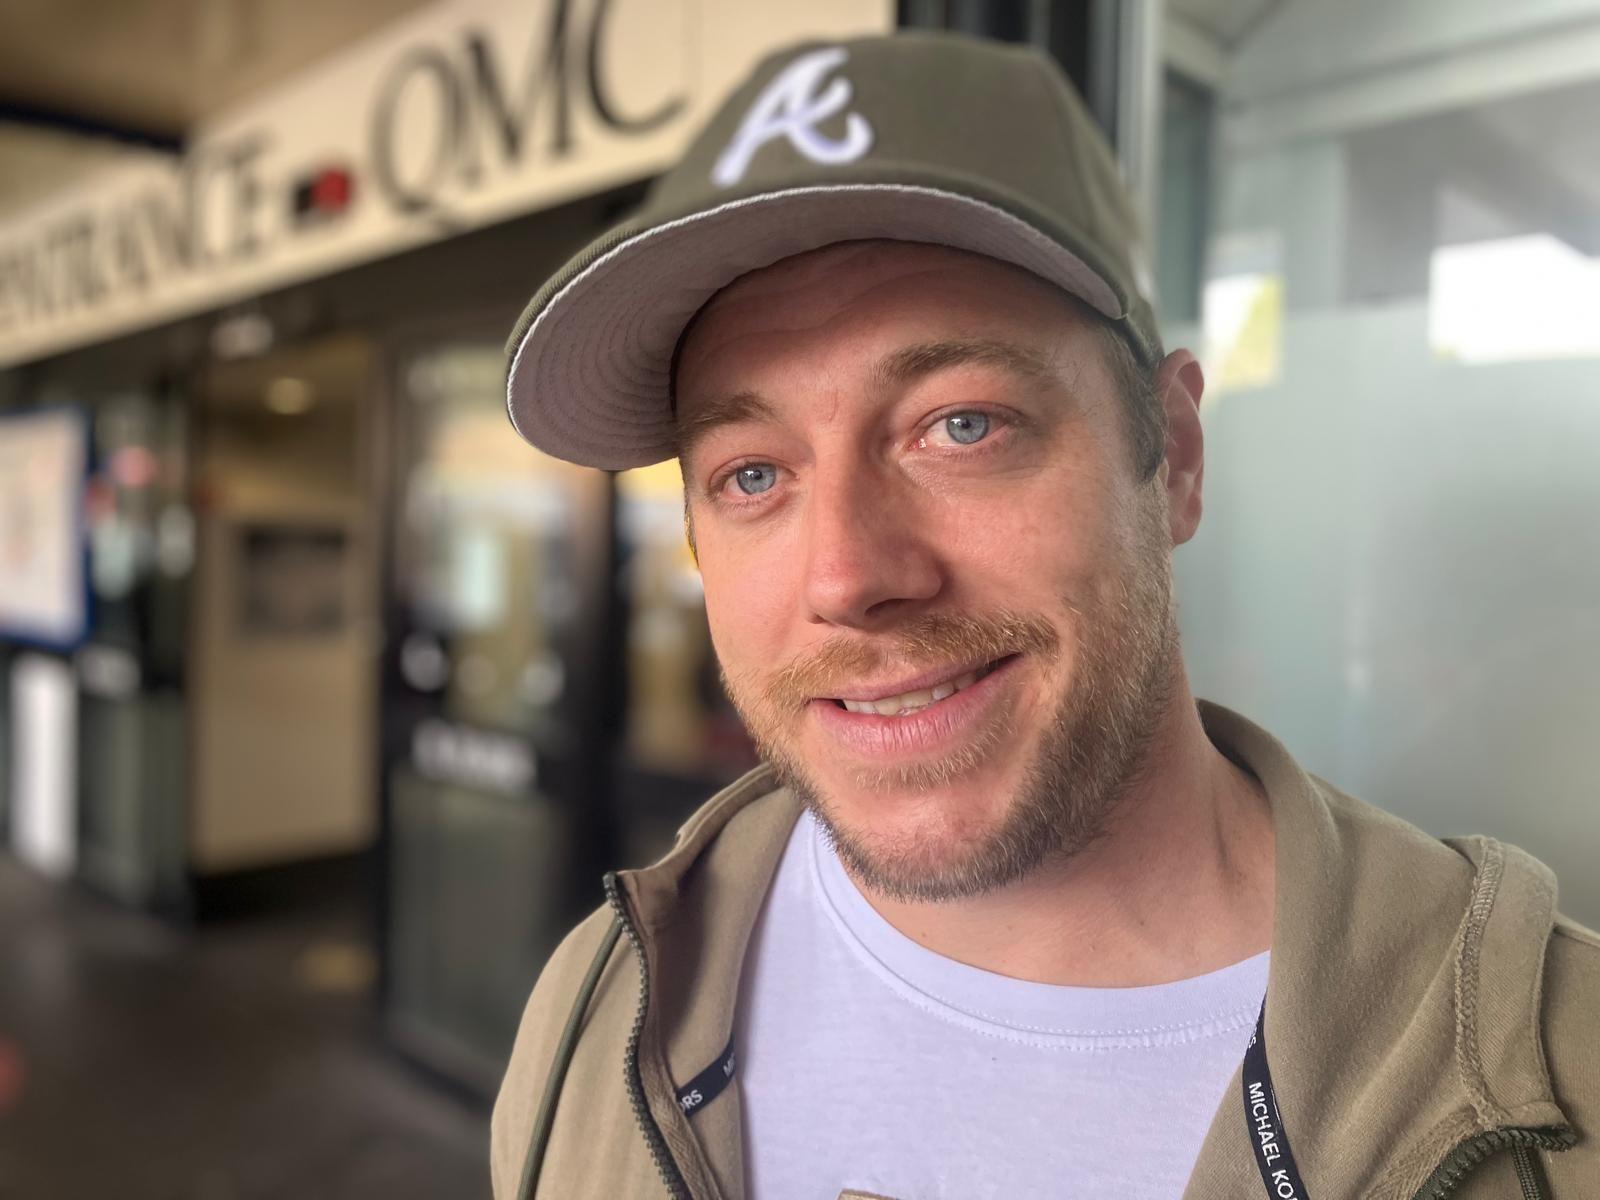
[(835, 78), (827, 88), (822, 80), (850, 54), (838, 46), (802, 54), (766, 85), (766, 91), (733, 134), (728, 149), (717, 158), (710, 178), (718, 187), (731, 187), (744, 178), (750, 158), (766, 142), (787, 138), (800, 154), (814, 163), (850, 163), (872, 149), (872, 126), (859, 112), (845, 117), (845, 136), (832, 139), (816, 126), (843, 112), (854, 90), (850, 80)]

